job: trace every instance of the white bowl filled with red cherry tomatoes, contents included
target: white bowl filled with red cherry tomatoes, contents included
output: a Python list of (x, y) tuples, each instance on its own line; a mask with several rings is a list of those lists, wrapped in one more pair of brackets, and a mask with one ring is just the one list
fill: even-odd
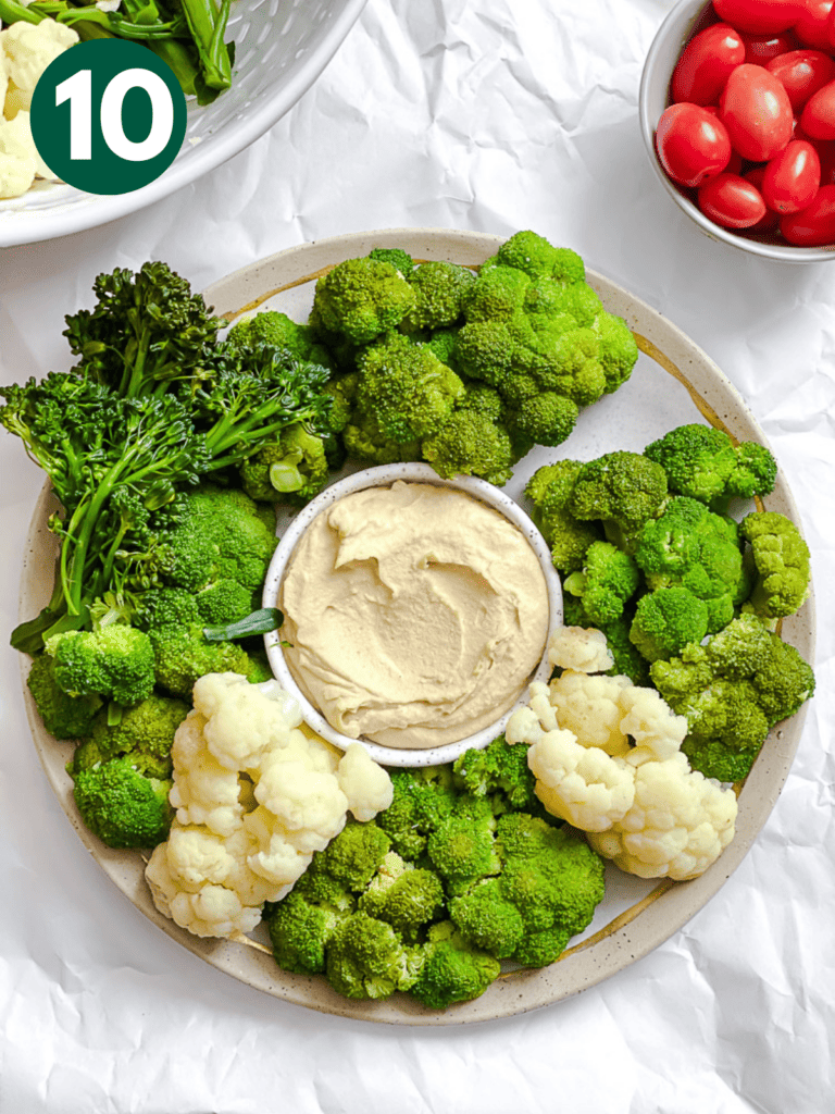
[(835, 258), (834, 0), (679, 0), (639, 104), (659, 180), (705, 233)]

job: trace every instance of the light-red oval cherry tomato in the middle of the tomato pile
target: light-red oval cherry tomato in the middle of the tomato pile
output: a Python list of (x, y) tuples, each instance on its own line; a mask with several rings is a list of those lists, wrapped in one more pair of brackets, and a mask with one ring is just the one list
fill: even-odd
[(752, 163), (765, 163), (783, 150), (794, 127), (788, 94), (763, 66), (743, 62), (725, 82), (719, 119), (734, 149)]

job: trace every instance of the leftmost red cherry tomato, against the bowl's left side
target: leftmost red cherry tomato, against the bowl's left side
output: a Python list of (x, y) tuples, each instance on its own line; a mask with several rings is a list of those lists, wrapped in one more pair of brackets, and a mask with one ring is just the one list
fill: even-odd
[(699, 186), (719, 174), (730, 158), (730, 139), (724, 124), (699, 105), (670, 105), (656, 129), (661, 166), (679, 186)]

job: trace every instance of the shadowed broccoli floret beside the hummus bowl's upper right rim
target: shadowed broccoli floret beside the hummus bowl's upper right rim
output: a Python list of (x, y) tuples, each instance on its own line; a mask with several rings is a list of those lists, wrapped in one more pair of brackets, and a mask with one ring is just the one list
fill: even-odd
[(599, 522), (581, 521), (568, 509), (581, 469), (579, 460), (543, 465), (524, 488), (525, 496), (533, 504), (531, 518), (551, 548), (554, 567), (561, 573), (581, 569), (589, 546), (603, 536)]

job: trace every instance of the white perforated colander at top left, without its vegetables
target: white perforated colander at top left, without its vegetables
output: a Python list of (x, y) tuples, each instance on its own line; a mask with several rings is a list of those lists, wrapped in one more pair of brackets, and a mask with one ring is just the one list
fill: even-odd
[(235, 0), (232, 88), (212, 105), (189, 99), (183, 147), (155, 182), (129, 194), (87, 194), (40, 182), (0, 201), (0, 247), (81, 232), (135, 213), (195, 182), (267, 131), (313, 85), (366, 0)]

